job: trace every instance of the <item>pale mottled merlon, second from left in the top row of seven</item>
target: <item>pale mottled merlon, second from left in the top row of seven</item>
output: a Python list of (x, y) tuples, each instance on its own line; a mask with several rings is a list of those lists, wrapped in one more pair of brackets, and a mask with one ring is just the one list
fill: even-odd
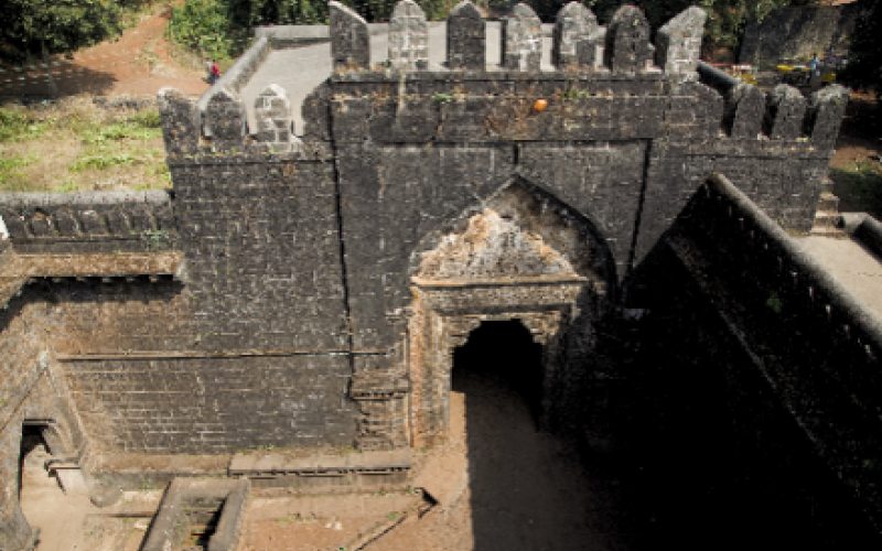
[(401, 0), (389, 21), (389, 62), (397, 71), (429, 67), (429, 24), (413, 0)]

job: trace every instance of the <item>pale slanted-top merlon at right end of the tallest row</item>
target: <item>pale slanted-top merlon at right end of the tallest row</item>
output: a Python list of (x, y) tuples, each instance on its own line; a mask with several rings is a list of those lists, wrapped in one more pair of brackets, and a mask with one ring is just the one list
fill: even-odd
[(658, 30), (656, 63), (665, 73), (698, 80), (698, 56), (704, 34), (704, 10), (692, 6)]

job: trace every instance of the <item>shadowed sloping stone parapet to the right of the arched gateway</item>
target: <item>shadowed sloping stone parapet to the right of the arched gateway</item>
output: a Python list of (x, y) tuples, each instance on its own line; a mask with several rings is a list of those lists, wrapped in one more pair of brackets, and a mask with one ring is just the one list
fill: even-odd
[(668, 242), (754, 375), (882, 531), (882, 321), (719, 173), (676, 228)]

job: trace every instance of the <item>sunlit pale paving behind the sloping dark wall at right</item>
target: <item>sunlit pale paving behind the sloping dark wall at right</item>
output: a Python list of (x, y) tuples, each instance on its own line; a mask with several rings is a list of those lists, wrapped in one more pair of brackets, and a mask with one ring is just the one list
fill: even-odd
[(808, 236), (798, 238), (856, 299), (882, 320), (882, 259), (854, 239)]

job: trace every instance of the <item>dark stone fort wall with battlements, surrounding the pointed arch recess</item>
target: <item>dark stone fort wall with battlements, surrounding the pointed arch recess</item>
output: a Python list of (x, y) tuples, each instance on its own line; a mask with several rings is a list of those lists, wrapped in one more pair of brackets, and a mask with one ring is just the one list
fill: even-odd
[[(261, 97), (254, 133), (236, 93), (218, 90), (202, 118), (211, 138), (194, 101), (160, 94), (173, 226), (135, 229), (129, 216), (126, 227), (148, 251), (143, 236), (168, 238), (183, 253), (180, 273), (47, 281), (35, 294), (56, 320), (51, 347), (96, 445), (223, 453), (406, 443), (396, 434), (420, 253), (513, 182), (582, 228), (602, 259), (607, 304), (712, 171), (782, 224), (811, 226), (843, 90), (765, 97), (702, 74), (700, 10), (652, 44), (635, 8), (602, 34), (590, 12), (568, 7), (549, 72), (533, 61), (536, 21), (523, 9), (506, 23), (503, 67), (488, 71), (484, 22), (467, 2), (448, 22), (449, 71), (422, 71), (420, 17), (408, 10), (410, 23), (390, 26), (407, 35), (398, 44), (419, 47), (390, 58), (412, 68), (369, 71), (365, 23), (333, 8), (337, 71), (302, 106), (299, 140), (286, 131), (292, 106), (278, 90)], [(88, 208), (10, 208), (21, 250), (94, 240)], [(580, 327), (609, 312), (587, 311)], [(589, 341), (573, 347), (590, 348), (580, 361), (598, 346)]]

